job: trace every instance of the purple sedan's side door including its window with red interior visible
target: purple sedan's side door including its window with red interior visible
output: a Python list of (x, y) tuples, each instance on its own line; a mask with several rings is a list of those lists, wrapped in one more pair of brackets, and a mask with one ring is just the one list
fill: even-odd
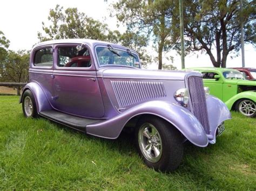
[(53, 107), (72, 115), (104, 116), (104, 105), (89, 47), (78, 44), (55, 46)]

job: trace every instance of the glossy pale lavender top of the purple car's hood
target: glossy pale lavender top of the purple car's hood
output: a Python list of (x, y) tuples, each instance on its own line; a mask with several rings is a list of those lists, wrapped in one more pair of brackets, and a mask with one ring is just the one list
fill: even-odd
[(156, 80), (184, 80), (187, 74), (201, 76), (199, 72), (185, 72), (178, 70), (150, 70), (128, 67), (107, 67), (100, 68), (104, 78), (125, 78), (125, 79), (156, 79)]

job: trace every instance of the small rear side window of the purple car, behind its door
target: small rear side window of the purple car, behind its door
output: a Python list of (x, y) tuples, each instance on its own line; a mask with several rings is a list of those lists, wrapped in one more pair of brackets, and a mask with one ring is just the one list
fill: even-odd
[(34, 56), (35, 66), (51, 67), (53, 64), (52, 48), (42, 48), (36, 51)]

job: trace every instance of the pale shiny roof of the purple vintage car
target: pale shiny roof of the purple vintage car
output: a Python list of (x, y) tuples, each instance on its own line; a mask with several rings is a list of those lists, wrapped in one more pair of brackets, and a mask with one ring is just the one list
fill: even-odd
[(38, 43), (35, 46), (33, 46), (32, 49), (37, 48), (39, 46), (47, 46), (47, 45), (52, 45), (52, 44), (67, 44), (67, 43), (80, 43), (80, 44), (87, 44), (91, 48), (94, 47), (95, 45), (111, 45), (116, 48), (122, 48), (122, 49), (127, 49), (127, 47), (118, 45), (118, 44), (113, 44), (109, 43), (106, 41), (100, 41), (100, 40), (92, 40), (92, 39), (58, 39), (58, 40), (48, 40), (48, 41), (43, 41), (42, 43)]

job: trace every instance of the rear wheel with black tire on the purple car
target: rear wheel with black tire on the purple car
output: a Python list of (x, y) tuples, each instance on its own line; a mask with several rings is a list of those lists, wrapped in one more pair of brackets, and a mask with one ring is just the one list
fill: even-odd
[(22, 110), (25, 117), (38, 117), (36, 100), (31, 90), (25, 90), (22, 96)]

